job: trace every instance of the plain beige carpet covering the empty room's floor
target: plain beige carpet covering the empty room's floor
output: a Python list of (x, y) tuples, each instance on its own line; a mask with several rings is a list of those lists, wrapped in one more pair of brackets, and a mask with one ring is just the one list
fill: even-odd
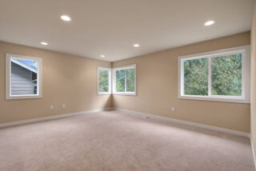
[(0, 129), (0, 170), (254, 170), (250, 140), (120, 111)]

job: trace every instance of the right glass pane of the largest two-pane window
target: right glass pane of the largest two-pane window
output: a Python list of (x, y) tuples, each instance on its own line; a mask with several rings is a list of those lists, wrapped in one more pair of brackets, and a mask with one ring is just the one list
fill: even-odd
[(211, 58), (211, 93), (242, 96), (242, 54)]

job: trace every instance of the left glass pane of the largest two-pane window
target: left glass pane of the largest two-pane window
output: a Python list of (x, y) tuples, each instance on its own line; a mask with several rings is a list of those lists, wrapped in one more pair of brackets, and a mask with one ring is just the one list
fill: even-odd
[(208, 58), (184, 62), (184, 94), (208, 95)]

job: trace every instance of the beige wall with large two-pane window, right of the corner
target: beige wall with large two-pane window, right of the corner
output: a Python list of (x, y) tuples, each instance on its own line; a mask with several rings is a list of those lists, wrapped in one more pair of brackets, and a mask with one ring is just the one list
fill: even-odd
[(178, 56), (244, 45), (250, 45), (250, 32), (114, 62), (113, 67), (137, 64), (138, 96), (114, 95), (113, 105), (249, 133), (249, 104), (178, 99)]

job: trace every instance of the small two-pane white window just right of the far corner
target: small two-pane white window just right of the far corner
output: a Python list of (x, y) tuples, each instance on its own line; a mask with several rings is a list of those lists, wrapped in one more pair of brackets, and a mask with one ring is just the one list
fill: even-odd
[(114, 94), (136, 95), (136, 65), (113, 69)]

